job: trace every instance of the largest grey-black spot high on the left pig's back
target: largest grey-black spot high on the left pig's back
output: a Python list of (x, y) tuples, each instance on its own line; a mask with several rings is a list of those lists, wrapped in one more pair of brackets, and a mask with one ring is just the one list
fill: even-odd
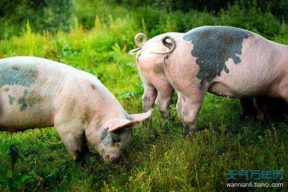
[(30, 87), (38, 76), (36, 66), (0, 65), (0, 88), (5, 85), (21, 85)]

